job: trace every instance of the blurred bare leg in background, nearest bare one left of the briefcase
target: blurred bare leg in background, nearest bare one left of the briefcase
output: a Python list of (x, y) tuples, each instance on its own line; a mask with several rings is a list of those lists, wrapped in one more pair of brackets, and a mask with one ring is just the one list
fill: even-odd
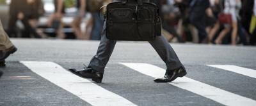
[(85, 36), (81, 30), (81, 22), (84, 18), (85, 11), (86, 11), (86, 0), (77, 0), (77, 17), (74, 18), (74, 20), (71, 23), (72, 30), (74, 30), (74, 34), (77, 39), (88, 39), (88, 36)]

